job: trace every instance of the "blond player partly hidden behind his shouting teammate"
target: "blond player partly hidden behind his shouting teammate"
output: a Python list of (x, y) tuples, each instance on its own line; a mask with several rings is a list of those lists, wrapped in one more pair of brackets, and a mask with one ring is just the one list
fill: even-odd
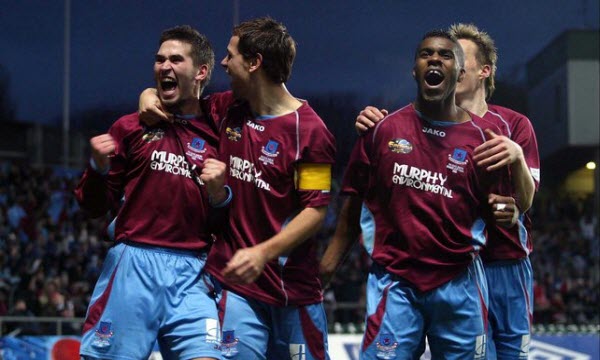
[[(465, 78), (456, 90), (458, 105), (501, 130), (500, 134), (488, 133), (489, 140), (475, 150), (474, 159), (478, 166), (492, 171), (503, 166), (510, 168), (510, 176), (505, 176), (495, 193), (489, 195), (495, 216), (488, 221), (488, 242), (481, 254), (486, 277), (492, 285), (489, 355), (527, 358), (533, 315), (533, 274), (529, 260), (533, 246), (531, 219), (526, 211), (540, 181), (537, 140), (526, 116), (486, 102), (496, 88), (498, 55), (494, 40), (473, 24), (455, 24), (449, 32), (465, 51)], [(373, 126), (384, 115), (385, 110), (365, 108), (357, 117), (357, 129)]]

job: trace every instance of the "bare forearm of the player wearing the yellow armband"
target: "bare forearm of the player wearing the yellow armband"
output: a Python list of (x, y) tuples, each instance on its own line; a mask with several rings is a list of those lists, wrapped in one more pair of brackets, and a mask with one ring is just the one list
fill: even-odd
[(327, 206), (305, 208), (277, 235), (257, 247), (264, 252), (267, 261), (277, 259), (314, 235), (321, 228), (326, 213)]

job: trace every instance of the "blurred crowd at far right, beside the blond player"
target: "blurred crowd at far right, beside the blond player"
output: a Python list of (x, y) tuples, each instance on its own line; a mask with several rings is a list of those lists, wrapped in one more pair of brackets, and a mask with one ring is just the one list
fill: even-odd
[(544, 203), (532, 215), (534, 321), (599, 324), (600, 240), (594, 199), (553, 198)]

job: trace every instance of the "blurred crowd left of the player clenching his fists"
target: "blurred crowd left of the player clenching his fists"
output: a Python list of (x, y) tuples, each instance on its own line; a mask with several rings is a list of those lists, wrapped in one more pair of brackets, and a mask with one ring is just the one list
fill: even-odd
[[(110, 243), (106, 221), (83, 214), (77, 174), (0, 164), (0, 316), (84, 317)], [(19, 325), (52, 334), (52, 323)], [(66, 324), (63, 334), (79, 334)]]

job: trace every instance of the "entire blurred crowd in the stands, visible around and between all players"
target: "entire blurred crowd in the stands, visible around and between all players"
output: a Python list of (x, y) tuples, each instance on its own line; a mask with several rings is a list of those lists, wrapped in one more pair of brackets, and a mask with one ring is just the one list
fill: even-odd
[[(78, 172), (0, 163), (0, 316), (82, 318), (111, 243), (105, 219), (88, 219), (73, 189)], [(333, 233), (339, 199), (319, 233)], [(534, 322), (598, 324), (598, 214), (592, 199), (543, 198), (531, 210)], [(369, 257), (357, 245), (325, 291), (330, 323), (361, 323)], [(67, 323), (63, 334), (79, 334)], [(2, 333), (53, 334), (43, 322), (6, 322)]]

